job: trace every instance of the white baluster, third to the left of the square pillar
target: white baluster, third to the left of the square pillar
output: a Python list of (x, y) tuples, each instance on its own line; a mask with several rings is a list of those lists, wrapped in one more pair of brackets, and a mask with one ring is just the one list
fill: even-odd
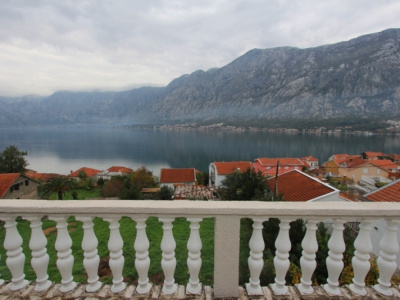
[(134, 219), (136, 222), (136, 239), (134, 248), (136, 251), (135, 267), (138, 272), (138, 286), (136, 292), (139, 294), (146, 294), (150, 291), (152, 284), (149, 282), (149, 239), (146, 234), (146, 218)]

